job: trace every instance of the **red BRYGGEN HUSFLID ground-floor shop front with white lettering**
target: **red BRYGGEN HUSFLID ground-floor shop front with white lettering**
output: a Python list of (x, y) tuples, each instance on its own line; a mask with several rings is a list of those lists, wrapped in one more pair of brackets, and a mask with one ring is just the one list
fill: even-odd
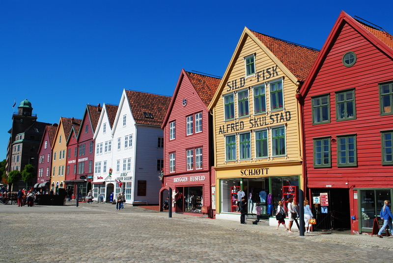
[(209, 173), (166, 176), (160, 191), (161, 204), (168, 197), (162, 193), (172, 189), (172, 212), (202, 216), (211, 215), (211, 191)]

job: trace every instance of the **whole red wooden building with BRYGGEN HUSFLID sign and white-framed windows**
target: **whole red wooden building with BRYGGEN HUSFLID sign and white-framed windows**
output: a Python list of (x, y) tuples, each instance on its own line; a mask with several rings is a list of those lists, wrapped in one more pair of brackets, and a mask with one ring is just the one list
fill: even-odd
[[(214, 216), (212, 116), (207, 106), (221, 79), (181, 71), (164, 119), (164, 177), (160, 203), (174, 197), (173, 211)], [(213, 205), (213, 206), (212, 206)]]

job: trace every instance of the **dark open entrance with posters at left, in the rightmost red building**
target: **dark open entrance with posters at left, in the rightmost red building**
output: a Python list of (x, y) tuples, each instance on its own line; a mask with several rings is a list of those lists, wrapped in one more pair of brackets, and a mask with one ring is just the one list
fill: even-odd
[[(328, 206), (323, 209), (321, 205), (311, 204), (312, 213), (316, 218), (316, 230), (351, 229), (351, 209), (349, 205), (348, 189), (315, 189), (311, 191), (312, 196), (320, 193), (328, 193)], [(326, 213), (327, 212), (327, 213)]]

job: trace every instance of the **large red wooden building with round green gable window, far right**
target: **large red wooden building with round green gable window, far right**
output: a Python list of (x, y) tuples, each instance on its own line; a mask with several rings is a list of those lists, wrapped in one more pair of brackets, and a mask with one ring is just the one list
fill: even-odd
[[(392, 48), (388, 32), (341, 12), (297, 95), (317, 229), (369, 232), (392, 201)], [(313, 204), (321, 193), (328, 202)]]

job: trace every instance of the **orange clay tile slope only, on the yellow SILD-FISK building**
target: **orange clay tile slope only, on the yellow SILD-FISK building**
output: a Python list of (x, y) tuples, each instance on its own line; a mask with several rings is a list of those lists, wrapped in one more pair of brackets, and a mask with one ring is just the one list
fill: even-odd
[(319, 50), (307, 48), (278, 38), (267, 36), (253, 30), (253, 34), (298, 78), (305, 81)]

